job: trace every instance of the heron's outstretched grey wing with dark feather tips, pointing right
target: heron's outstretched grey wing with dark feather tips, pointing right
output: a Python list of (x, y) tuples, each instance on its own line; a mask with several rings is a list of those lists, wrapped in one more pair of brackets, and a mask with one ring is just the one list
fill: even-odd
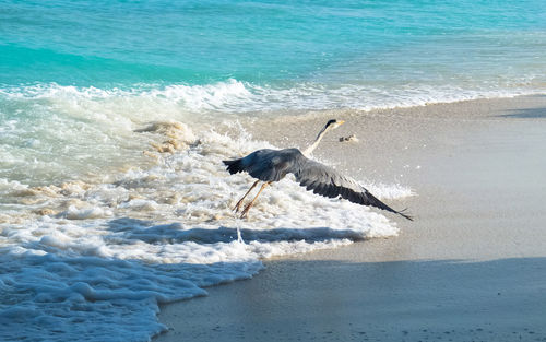
[(412, 216), (403, 213), (404, 210), (396, 211), (390, 208), (353, 178), (340, 174), (330, 166), (309, 160), (301, 153), (295, 158), (295, 163), (292, 163), (286, 172), (294, 174), (296, 181), (307, 190), (329, 198), (341, 196), (353, 203), (376, 207), (413, 221)]

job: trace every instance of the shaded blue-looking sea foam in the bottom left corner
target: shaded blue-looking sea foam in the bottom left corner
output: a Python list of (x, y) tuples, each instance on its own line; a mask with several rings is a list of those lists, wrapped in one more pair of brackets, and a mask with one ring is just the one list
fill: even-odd
[[(94, 256), (0, 253), (2, 341), (150, 341), (166, 330), (157, 303), (250, 278), (259, 262), (149, 266)], [(3, 300), (2, 300), (3, 302)], [(92, 333), (90, 333), (92, 331)]]

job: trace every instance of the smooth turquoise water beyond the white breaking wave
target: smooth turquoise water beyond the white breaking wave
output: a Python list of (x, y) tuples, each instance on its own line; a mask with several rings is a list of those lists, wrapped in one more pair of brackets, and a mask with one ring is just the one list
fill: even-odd
[(0, 83), (538, 86), (544, 13), (541, 0), (1, 1)]

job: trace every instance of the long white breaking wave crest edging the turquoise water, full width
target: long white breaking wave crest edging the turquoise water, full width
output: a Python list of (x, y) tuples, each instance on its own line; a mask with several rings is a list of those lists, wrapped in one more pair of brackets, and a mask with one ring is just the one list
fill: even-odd
[[(312, 82), (287, 87), (258, 85), (227, 80), (205, 85), (154, 85), (136, 84), (130, 89), (97, 89), (61, 86), (55, 83), (0, 90), (0, 95), (19, 99), (46, 99), (61, 108), (93, 106), (106, 113), (133, 113), (180, 117), (183, 113), (248, 113), (272, 110), (317, 110), (353, 108), (371, 110), (380, 108), (423, 106), (477, 98), (513, 97), (544, 94), (534, 82), (513, 80), (499, 84), (476, 82), (456, 84), (402, 84), (379, 86), (366, 84), (324, 85)], [(188, 119), (188, 118), (186, 118)]]

